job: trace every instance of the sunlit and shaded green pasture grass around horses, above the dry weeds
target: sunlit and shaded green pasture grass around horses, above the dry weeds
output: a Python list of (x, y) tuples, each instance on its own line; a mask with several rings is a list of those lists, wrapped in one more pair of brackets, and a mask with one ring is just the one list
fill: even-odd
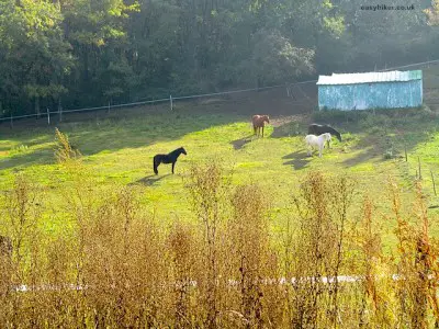
[[(273, 125), (266, 129), (267, 137), (256, 138), (251, 136), (249, 115), (217, 107), (215, 111), (201, 110), (185, 105), (177, 113), (162, 110), (155, 114), (137, 109), (126, 116), (99, 114), (98, 118), (61, 123), (57, 127), (82, 152), (85, 164), (99, 185), (109, 189), (114, 184), (133, 186), (140, 202), (164, 223), (171, 223), (176, 216), (193, 220), (183, 178), (192, 163), (214, 158), (219, 158), (233, 171), (234, 185), (258, 183), (263, 188), (273, 209), (271, 224), (274, 230), (282, 227), (280, 214), (309, 170), (346, 173), (357, 181), (360, 193), (352, 216), (359, 213), (363, 194), (371, 195), (378, 209), (385, 214), (389, 212), (387, 178), (393, 177), (399, 183), (409, 205), (419, 157), (429, 204), (437, 202), (429, 170), (438, 173), (439, 120), (424, 115), (423, 110), (389, 115), (361, 114), (360, 118), (347, 117), (347, 121), (340, 120), (346, 114), (320, 113), (319, 118), (326, 121), (338, 115), (334, 125), (344, 136), (342, 143), (334, 140), (331, 148), (325, 149), (323, 158), (316, 154), (306, 156), (303, 143), (306, 122), (277, 124), (274, 116), (271, 118)], [(45, 227), (56, 231), (64, 229), (64, 222), (54, 208), (63, 204), (63, 191), (69, 188), (69, 182), (55, 162), (54, 131), (55, 127), (0, 128), (0, 189), (10, 190), (18, 171), (26, 173), (43, 188)], [(177, 174), (170, 174), (170, 166), (162, 164), (159, 175), (155, 175), (154, 155), (180, 146), (184, 146), (188, 156), (179, 159)], [(404, 146), (407, 147), (408, 162), (403, 157)], [(389, 149), (392, 149), (392, 159), (384, 157)], [(439, 184), (439, 177), (437, 181)], [(431, 214), (436, 215), (436, 211), (431, 209)], [(389, 237), (391, 235), (389, 229)]]

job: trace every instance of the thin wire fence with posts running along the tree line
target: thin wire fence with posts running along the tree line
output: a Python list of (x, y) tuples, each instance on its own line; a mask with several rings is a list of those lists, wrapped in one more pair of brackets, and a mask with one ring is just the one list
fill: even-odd
[[(428, 61), (421, 61), (421, 63), (415, 63), (415, 64), (409, 64), (405, 66), (397, 66), (397, 67), (391, 67), (391, 68), (384, 68), (381, 70), (375, 70), (375, 71), (387, 71), (387, 70), (394, 70), (394, 69), (402, 69), (402, 68), (409, 68), (409, 67), (416, 67), (416, 66), (425, 66), (429, 64), (439, 64), (439, 59), (435, 60), (428, 60)], [(278, 89), (278, 88), (285, 88), (286, 89), (286, 94), (288, 97), (291, 97), (292, 90), (294, 87), (299, 88), (300, 93), (302, 93), (308, 103), (313, 103), (311, 98), (306, 95), (306, 93), (300, 89), (301, 84), (307, 84), (307, 83), (315, 83), (317, 80), (307, 80), (307, 81), (299, 81), (299, 82), (291, 82), (291, 83), (284, 83), (284, 84), (275, 84), (275, 86), (268, 86), (268, 87), (259, 87), (259, 88), (248, 88), (248, 89), (239, 89), (239, 90), (232, 90), (232, 91), (222, 91), (222, 92), (213, 92), (213, 93), (202, 93), (202, 94), (192, 94), (192, 95), (181, 95), (181, 97), (172, 97), (171, 94), (169, 98), (162, 98), (162, 99), (157, 99), (157, 100), (147, 100), (147, 101), (139, 101), (139, 102), (131, 102), (131, 103), (123, 103), (123, 104), (108, 104), (103, 106), (92, 106), (92, 107), (81, 107), (81, 109), (59, 109), (57, 111), (49, 111), (47, 109), (46, 112), (42, 112), (40, 114), (33, 113), (33, 114), (25, 114), (25, 115), (18, 115), (18, 116), (3, 116), (0, 117), (0, 122), (7, 122), (10, 121), (11, 125), (13, 121), (21, 120), (21, 118), (29, 118), (29, 117), (47, 117), (47, 123), (50, 124), (50, 115), (59, 115), (59, 120), (61, 120), (63, 114), (65, 113), (76, 113), (76, 112), (88, 112), (88, 111), (100, 111), (100, 110), (108, 110), (110, 111), (111, 109), (121, 109), (121, 107), (133, 107), (133, 106), (138, 106), (138, 105), (147, 105), (147, 104), (157, 104), (157, 103), (165, 103), (169, 102), (170, 104), (170, 110), (173, 110), (173, 102), (179, 101), (179, 100), (193, 100), (193, 99), (201, 99), (201, 98), (212, 98), (212, 97), (217, 97), (217, 95), (227, 95), (227, 94), (234, 94), (234, 93), (244, 93), (244, 92), (252, 92), (252, 91), (262, 91), (262, 90), (270, 90), (270, 89)], [(436, 103), (434, 103), (436, 104)]]

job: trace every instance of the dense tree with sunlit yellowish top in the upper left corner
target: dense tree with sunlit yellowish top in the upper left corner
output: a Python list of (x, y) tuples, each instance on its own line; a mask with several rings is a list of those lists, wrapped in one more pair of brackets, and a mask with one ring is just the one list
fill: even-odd
[(42, 101), (48, 105), (67, 92), (65, 76), (74, 64), (63, 38), (59, 7), (47, 1), (3, 0), (0, 8), (2, 100), (11, 111), (23, 106), (24, 98), (40, 115)]

